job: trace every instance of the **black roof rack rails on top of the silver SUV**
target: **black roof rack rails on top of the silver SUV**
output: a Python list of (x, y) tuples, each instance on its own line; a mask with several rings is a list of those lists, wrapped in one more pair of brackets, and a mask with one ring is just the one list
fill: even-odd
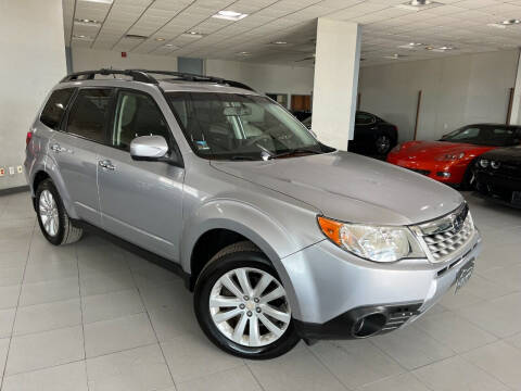
[(240, 81), (227, 80), (221, 77), (198, 75), (192, 73), (185, 72), (174, 72), (174, 71), (148, 71), (148, 70), (106, 70), (102, 68), (99, 71), (82, 71), (76, 72), (65, 76), (60, 83), (67, 83), (74, 80), (92, 80), (96, 75), (126, 75), (130, 76), (134, 81), (142, 81), (157, 85), (158, 80), (151, 75), (166, 75), (173, 76), (179, 80), (186, 81), (212, 81), (217, 84), (226, 84), (230, 87), (243, 88), (250, 91), (255, 91), (252, 87), (246, 86)]

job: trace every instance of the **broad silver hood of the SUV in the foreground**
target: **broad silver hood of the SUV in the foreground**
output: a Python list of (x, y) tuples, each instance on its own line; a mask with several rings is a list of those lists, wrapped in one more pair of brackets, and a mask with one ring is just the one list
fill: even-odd
[(435, 180), (350, 152), (212, 165), (343, 222), (417, 224), (449, 213), (463, 201)]

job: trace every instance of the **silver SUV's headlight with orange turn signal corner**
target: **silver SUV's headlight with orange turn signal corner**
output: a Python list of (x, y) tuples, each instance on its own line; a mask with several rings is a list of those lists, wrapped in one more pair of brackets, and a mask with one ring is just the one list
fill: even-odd
[(322, 232), (340, 248), (374, 262), (395, 262), (404, 257), (424, 257), (407, 227), (379, 227), (340, 223), (318, 217)]

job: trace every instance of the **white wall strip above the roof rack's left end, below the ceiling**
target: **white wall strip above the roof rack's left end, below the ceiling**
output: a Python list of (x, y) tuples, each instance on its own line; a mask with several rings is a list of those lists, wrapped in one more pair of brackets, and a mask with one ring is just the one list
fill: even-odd
[(110, 67), (177, 71), (177, 58), (171, 55), (127, 53), (126, 58), (122, 58), (122, 53), (118, 51), (88, 48), (73, 48), (72, 53), (74, 72)]

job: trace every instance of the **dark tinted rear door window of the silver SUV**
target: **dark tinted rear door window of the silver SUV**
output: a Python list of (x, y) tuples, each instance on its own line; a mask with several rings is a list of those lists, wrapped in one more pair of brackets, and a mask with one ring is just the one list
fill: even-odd
[(88, 88), (78, 92), (68, 115), (67, 131), (93, 141), (105, 141), (112, 89)]

